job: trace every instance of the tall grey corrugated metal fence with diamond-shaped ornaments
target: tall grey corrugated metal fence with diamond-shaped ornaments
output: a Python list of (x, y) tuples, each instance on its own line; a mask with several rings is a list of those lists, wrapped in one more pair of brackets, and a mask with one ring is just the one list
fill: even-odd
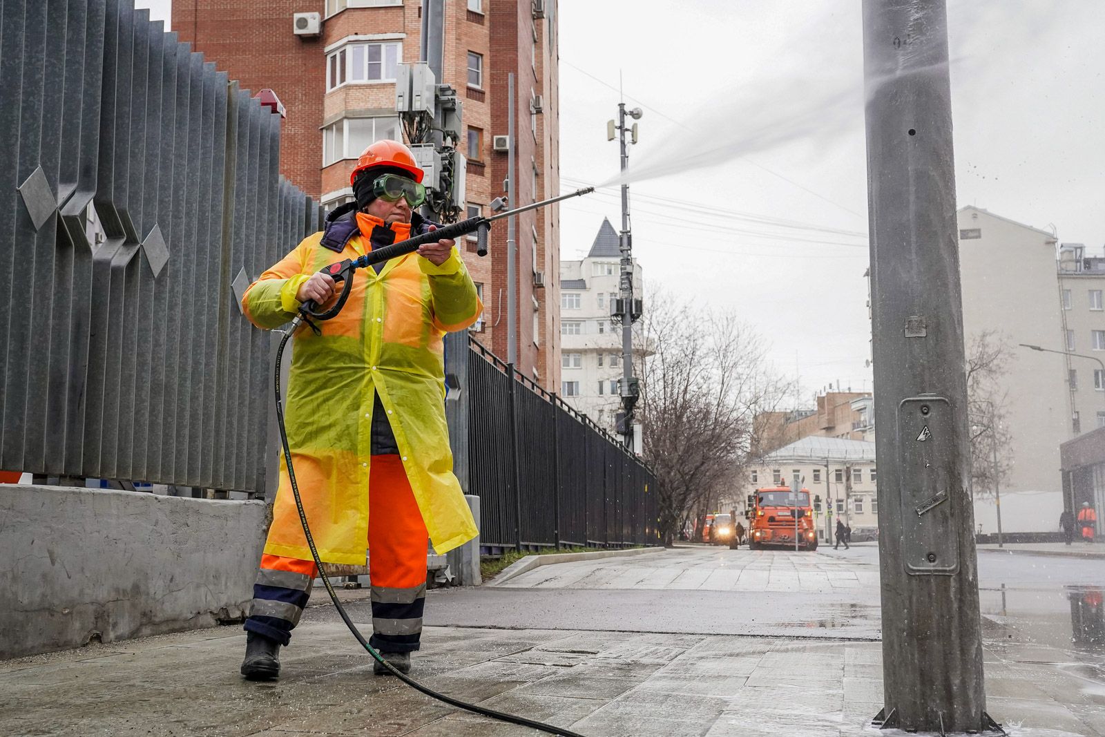
[(2, 0), (0, 468), (263, 493), (235, 291), (317, 230), (280, 117), (117, 0)]

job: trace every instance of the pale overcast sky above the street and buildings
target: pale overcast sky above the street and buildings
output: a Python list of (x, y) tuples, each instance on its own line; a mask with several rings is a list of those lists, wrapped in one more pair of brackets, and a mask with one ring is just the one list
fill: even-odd
[[(137, 4), (168, 14), (168, 0)], [(803, 403), (838, 380), (870, 390), (859, 0), (565, 0), (559, 13), (562, 189), (617, 173), (606, 122), (621, 75), (644, 110), (631, 166), (669, 172), (632, 188), (646, 283), (753, 325)], [(1105, 3), (949, 0), (949, 17), (959, 203), (1101, 253)], [(564, 206), (561, 255), (581, 256), (604, 215), (619, 227), (618, 202), (610, 188)]]

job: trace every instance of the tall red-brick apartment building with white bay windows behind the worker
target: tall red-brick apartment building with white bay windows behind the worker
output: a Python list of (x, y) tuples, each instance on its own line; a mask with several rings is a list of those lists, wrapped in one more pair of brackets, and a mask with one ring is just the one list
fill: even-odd
[[(559, 193), (556, 0), (445, 0), (444, 80), (464, 103), (470, 214), (503, 194), (507, 75), (515, 74), (517, 203)], [(318, 36), (293, 33), (293, 15), (319, 12)], [(284, 104), (281, 173), (334, 207), (351, 199), (349, 172), (373, 140), (400, 138), (394, 70), (419, 59), (419, 0), (175, 0), (172, 29), (250, 90)], [(517, 218), (519, 371), (560, 386), (559, 209)], [(485, 312), (474, 337), (507, 352), (506, 223), (490, 254), (464, 244)]]

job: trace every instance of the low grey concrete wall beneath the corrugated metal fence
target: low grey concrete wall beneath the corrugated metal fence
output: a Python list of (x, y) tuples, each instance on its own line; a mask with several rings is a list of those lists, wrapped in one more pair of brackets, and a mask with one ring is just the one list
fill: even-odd
[(0, 659), (240, 620), (266, 529), (261, 501), (0, 486)]

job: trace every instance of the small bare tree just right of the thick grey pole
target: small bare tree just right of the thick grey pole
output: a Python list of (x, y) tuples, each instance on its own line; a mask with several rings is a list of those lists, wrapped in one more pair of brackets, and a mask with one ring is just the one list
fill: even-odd
[(993, 496), (1012, 470), (1006, 376), (1012, 348), (997, 330), (986, 329), (967, 346), (967, 417), (970, 423), (970, 477), (976, 496)]

